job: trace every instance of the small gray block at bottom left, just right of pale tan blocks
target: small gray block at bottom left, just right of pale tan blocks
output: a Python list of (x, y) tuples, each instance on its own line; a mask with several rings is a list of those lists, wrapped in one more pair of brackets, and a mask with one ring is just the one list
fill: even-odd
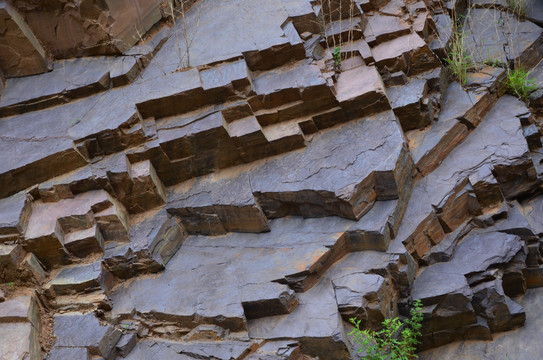
[(56, 347), (85, 347), (92, 354), (110, 358), (121, 332), (110, 325), (101, 325), (93, 313), (58, 314), (54, 318)]

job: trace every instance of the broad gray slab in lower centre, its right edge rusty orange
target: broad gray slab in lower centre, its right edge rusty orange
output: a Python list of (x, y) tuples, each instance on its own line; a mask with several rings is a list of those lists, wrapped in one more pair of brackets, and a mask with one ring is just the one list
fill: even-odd
[[(382, 221), (386, 223), (388, 216), (383, 216)], [(277, 286), (283, 290), (272, 291), (272, 281), (299, 289), (311, 288), (322, 274), (322, 263), (331, 261), (334, 253), (342, 256), (347, 251), (339, 245), (341, 249), (332, 251), (330, 248), (338, 243), (345, 231), (356, 225), (356, 222), (337, 217), (286, 217), (271, 221), (268, 233), (189, 236), (163, 273), (156, 278), (136, 279), (111, 295), (113, 313), (131, 314), (136, 310), (153, 318), (178, 321), (188, 328), (203, 322), (233, 330), (244, 329), (245, 286), (254, 284), (268, 289), (258, 291), (255, 293), (258, 299), (251, 300), (264, 301), (263, 304), (281, 302), (281, 294), (286, 288)], [(378, 227), (371, 225), (371, 228)], [(360, 225), (357, 231), (363, 228)], [(369, 263), (380, 261), (381, 258)], [(213, 286), (202, 287), (200, 284), (203, 283)], [(153, 296), (157, 289), (167, 289), (169, 295)], [(293, 303), (289, 300), (283, 304), (284, 309), (291, 310)], [(201, 320), (194, 320), (195, 314)]]

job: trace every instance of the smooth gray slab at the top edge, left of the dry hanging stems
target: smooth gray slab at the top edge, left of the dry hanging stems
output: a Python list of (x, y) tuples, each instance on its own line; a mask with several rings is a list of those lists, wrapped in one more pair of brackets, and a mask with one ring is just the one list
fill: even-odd
[[(246, 15), (240, 14), (239, 9), (247, 11), (243, 13)], [(239, 21), (229, 21), (230, 15)], [(157, 74), (171, 73), (187, 66), (189, 60), (190, 66), (199, 66), (234, 58), (247, 51), (289, 44), (281, 28), (287, 17), (280, 1), (256, 4), (250, 0), (231, 0), (218, 6), (212, 1), (203, 1), (186, 15), (187, 34), (195, 39), (189, 51), (183, 37), (183, 24), (178, 22), (172, 36), (143, 72), (142, 78), (147, 80)]]

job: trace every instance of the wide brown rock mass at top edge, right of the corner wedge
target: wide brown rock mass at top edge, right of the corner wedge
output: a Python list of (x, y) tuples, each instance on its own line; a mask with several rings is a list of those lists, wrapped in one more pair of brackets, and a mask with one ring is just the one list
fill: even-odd
[(40, 7), (21, 3), (19, 10), (57, 59), (120, 54), (162, 19), (160, 2), (154, 0), (105, 1), (69, 7), (61, 1), (50, 1)]

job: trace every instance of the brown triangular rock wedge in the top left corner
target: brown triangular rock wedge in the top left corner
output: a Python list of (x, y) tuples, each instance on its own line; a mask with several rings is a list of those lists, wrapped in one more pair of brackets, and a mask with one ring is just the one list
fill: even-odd
[(51, 70), (50, 61), (23, 17), (7, 1), (0, 3), (0, 70), (8, 78)]

